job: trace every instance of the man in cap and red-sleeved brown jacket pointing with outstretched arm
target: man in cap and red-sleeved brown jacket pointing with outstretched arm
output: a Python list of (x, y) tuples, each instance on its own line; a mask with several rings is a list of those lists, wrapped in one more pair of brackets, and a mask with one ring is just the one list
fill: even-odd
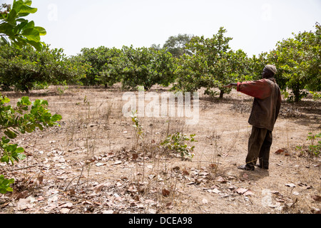
[(263, 79), (230, 83), (224, 86), (225, 88), (236, 86), (241, 93), (254, 97), (252, 112), (248, 120), (248, 123), (253, 126), (248, 140), (248, 155), (245, 160), (246, 164), (238, 167), (240, 170), (254, 170), (258, 159), (258, 167), (265, 170), (269, 168), (272, 130), (281, 107), (281, 92), (274, 78), (276, 72), (274, 65), (267, 65), (263, 69)]

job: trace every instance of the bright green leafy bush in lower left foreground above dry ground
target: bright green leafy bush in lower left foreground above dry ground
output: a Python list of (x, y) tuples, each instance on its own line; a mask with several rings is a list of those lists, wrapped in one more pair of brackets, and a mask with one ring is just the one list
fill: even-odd
[[(10, 141), (16, 138), (20, 133), (32, 133), (37, 128), (44, 128), (58, 125), (61, 115), (51, 115), (47, 109), (46, 100), (35, 100), (31, 103), (28, 97), (19, 99), (16, 107), (5, 105), (10, 102), (9, 98), (0, 94), (0, 162), (6, 162), (8, 165), (14, 165), (14, 162), (24, 160), (24, 148), (17, 144), (11, 144)], [(0, 176), (0, 192), (12, 191), (9, 187), (13, 179), (6, 179)]]

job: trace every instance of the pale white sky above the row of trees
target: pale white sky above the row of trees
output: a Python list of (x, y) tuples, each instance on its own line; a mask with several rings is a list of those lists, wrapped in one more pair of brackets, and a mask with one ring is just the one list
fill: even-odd
[(163, 46), (178, 33), (210, 38), (224, 26), (230, 47), (252, 57), (321, 23), (320, 0), (33, 0), (31, 6), (38, 12), (27, 19), (47, 31), (41, 40), (67, 55), (85, 47)]

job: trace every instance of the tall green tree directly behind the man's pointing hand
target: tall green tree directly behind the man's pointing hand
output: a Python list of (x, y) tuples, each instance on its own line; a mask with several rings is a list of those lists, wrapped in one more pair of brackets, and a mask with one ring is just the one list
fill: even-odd
[(226, 30), (221, 27), (212, 38), (194, 36), (186, 48), (193, 55), (180, 57), (176, 90), (195, 91), (205, 88), (205, 93), (215, 95), (213, 88), (220, 89), (220, 98), (230, 90), (223, 88), (225, 84), (235, 82), (245, 73), (246, 54), (242, 50), (232, 51), (228, 45), (232, 40), (225, 37)]

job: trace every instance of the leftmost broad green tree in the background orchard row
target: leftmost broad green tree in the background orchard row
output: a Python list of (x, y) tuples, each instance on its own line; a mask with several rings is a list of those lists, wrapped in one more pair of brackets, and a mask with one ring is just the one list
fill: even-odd
[(68, 61), (62, 49), (49, 46), (36, 51), (31, 46), (18, 49), (7, 44), (0, 46), (0, 57), (1, 86), (26, 93), (39, 83), (76, 83), (85, 73), (83, 66)]

